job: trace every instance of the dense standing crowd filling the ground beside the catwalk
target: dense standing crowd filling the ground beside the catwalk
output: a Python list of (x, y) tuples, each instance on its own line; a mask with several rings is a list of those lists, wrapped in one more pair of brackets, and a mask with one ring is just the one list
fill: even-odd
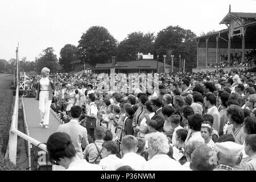
[(47, 141), (53, 164), (67, 170), (256, 169), (251, 73), (160, 73), (158, 90), (139, 86), (132, 93), (100, 92), (106, 85), (99, 86), (103, 78), (96, 74), (51, 77), (51, 107), (65, 121)]

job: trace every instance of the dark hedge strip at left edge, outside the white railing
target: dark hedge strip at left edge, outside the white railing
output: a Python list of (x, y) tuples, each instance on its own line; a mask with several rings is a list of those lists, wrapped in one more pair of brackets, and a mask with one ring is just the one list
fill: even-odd
[(0, 90), (0, 153), (5, 155), (13, 107), (13, 90)]

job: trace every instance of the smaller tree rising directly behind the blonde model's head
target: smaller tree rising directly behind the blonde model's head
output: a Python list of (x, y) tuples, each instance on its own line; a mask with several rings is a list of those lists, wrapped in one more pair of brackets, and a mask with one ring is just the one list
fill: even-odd
[(41, 72), (44, 67), (49, 68), (51, 72), (55, 72), (57, 70), (59, 64), (57, 63), (57, 56), (53, 52), (53, 48), (48, 47), (40, 53), (39, 57), (35, 60), (36, 71)]

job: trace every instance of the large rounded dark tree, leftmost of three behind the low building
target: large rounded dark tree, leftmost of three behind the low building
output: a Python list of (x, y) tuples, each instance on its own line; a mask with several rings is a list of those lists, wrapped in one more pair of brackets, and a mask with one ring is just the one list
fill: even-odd
[(79, 40), (78, 56), (83, 63), (106, 63), (116, 55), (117, 40), (105, 27), (90, 27)]

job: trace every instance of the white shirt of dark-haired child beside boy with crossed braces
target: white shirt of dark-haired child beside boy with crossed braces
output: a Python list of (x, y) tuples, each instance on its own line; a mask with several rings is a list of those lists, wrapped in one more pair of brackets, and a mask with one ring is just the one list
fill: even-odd
[(104, 171), (115, 171), (115, 166), (120, 162), (115, 154), (109, 155), (106, 158), (101, 159), (98, 164)]

